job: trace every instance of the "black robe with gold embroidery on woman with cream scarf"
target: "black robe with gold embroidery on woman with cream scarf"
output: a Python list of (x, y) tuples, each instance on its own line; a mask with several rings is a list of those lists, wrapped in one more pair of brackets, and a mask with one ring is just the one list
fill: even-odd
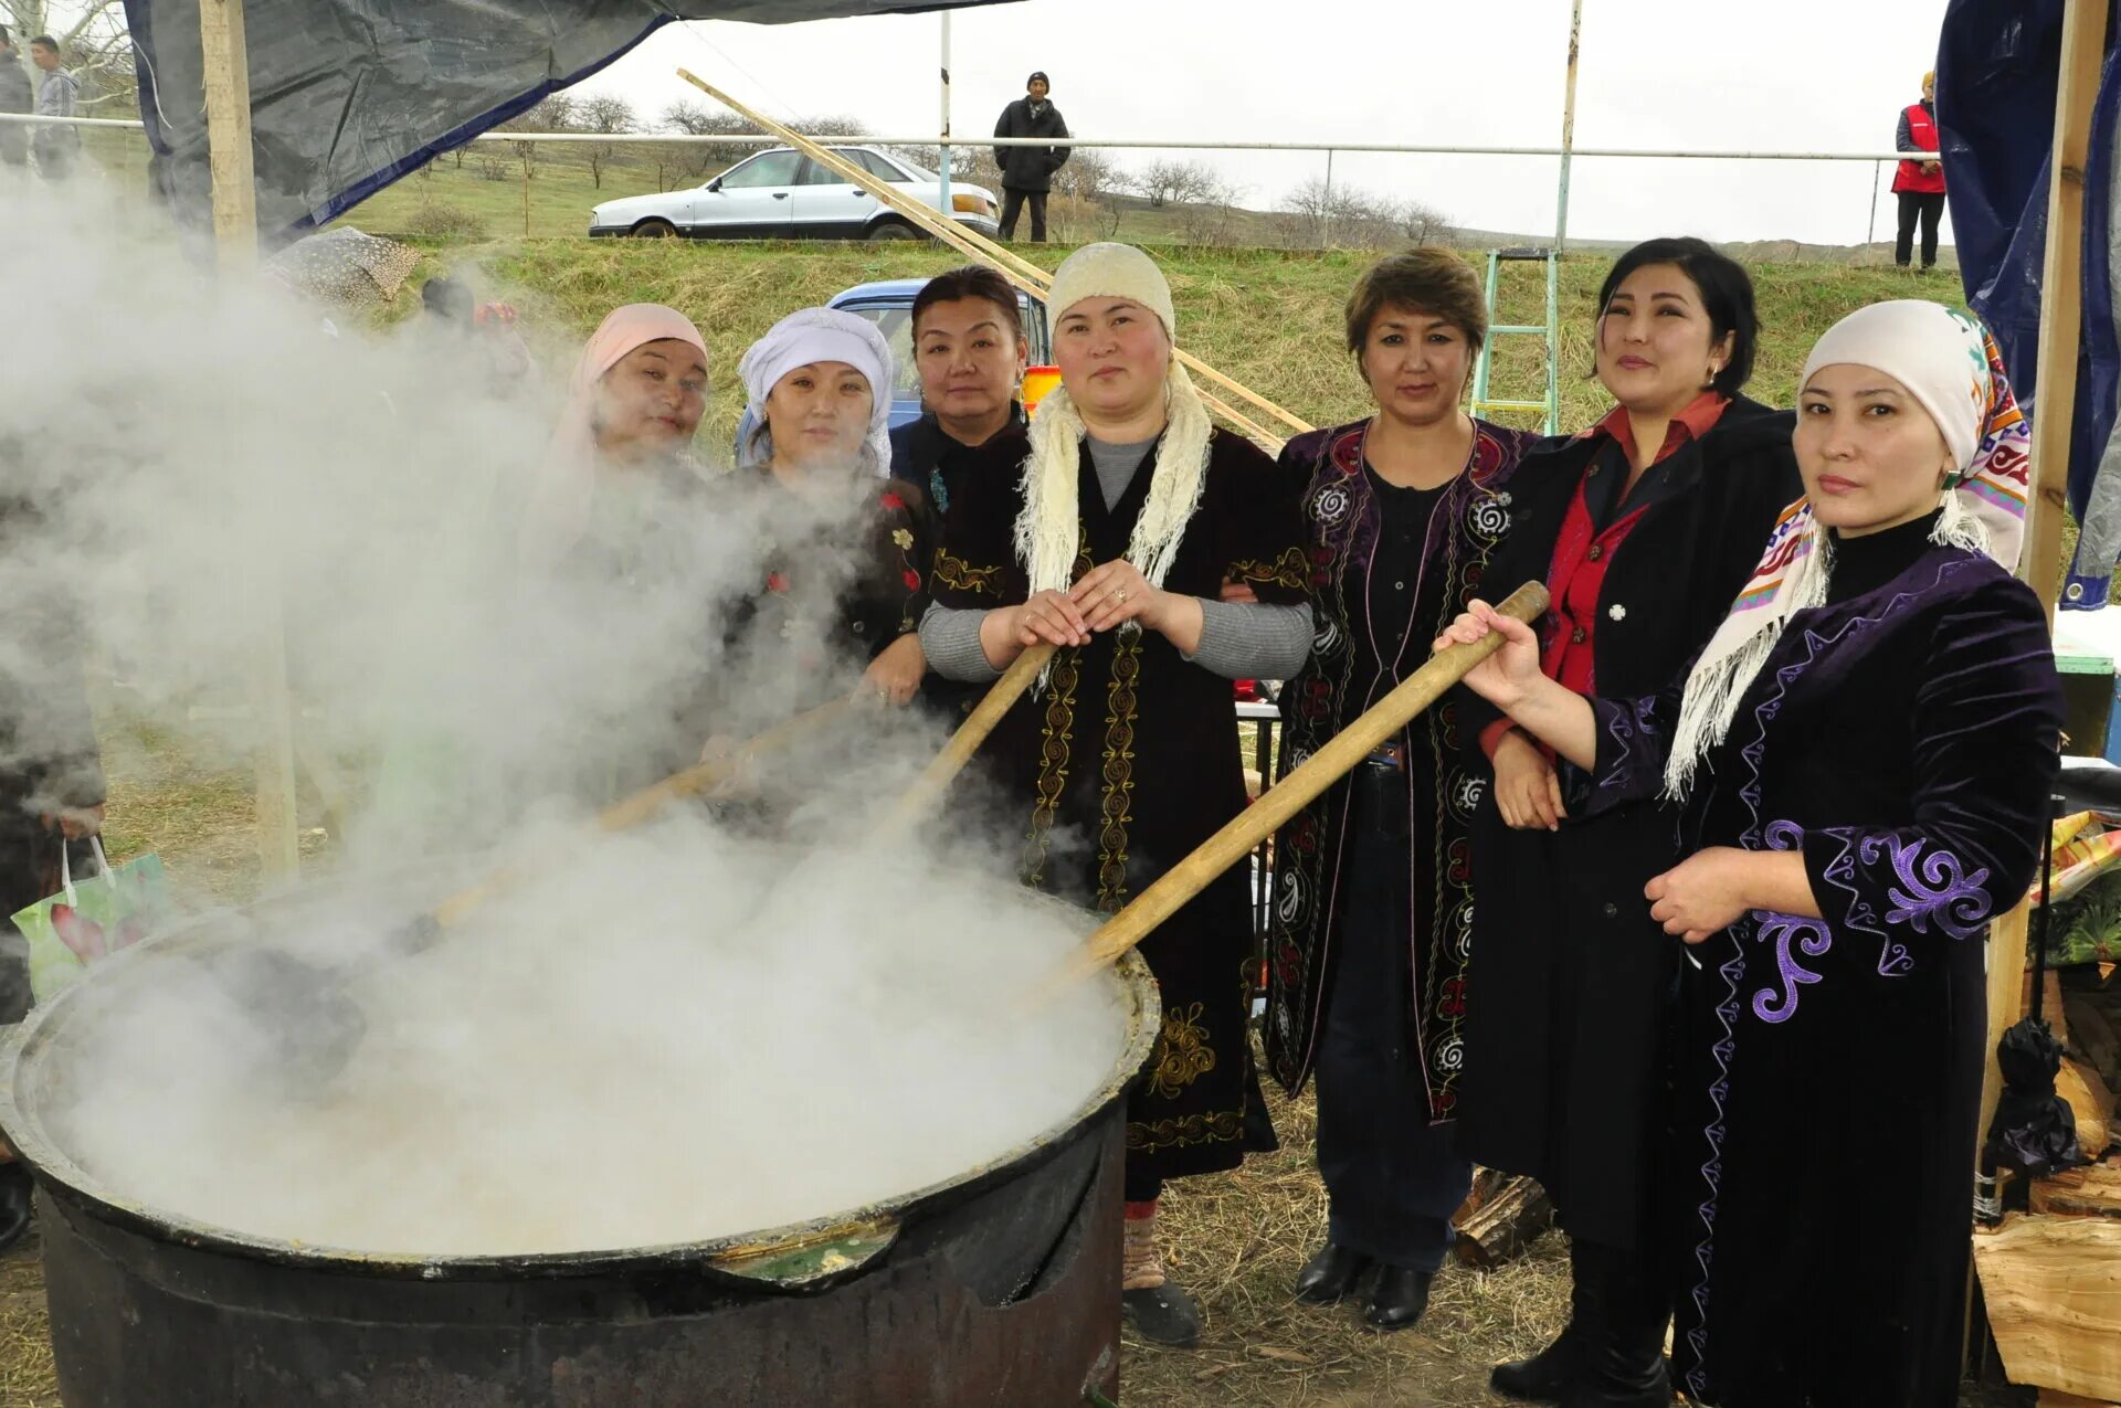
[[(935, 600), (1012, 606), (1029, 583), (1016, 560), (1022, 435), (978, 452), (957, 479), (935, 558)], [(1126, 556), (1152, 458), (1107, 509), (1088, 450), (1077, 467), (1075, 575)], [(1304, 598), (1296, 486), (1249, 441), (1215, 430), (1200, 507), (1164, 589), (1215, 600), (1226, 579), (1262, 602)], [(1024, 884), (1116, 912), (1245, 806), (1230, 681), (1186, 662), (1156, 632), (1105, 632), (1054, 655), (1044, 693), (1024, 698), (986, 744), (1007, 799)], [(1162, 988), (1162, 1039), (1128, 1096), (1128, 1181), (1234, 1168), (1273, 1147), (1245, 1020), (1251, 895), (1237, 869), (1211, 882), (1141, 944)]]

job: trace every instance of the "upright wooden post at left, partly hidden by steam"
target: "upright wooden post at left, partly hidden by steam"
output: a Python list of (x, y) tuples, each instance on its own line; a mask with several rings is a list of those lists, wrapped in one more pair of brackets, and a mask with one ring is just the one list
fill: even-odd
[[(259, 259), (257, 178), (250, 163), (250, 57), (244, 0), (199, 0), (208, 168), (214, 182), (214, 246), (223, 278), (248, 278)], [(269, 562), (271, 553), (263, 553)], [(252, 774), (261, 878), (301, 869), (295, 831), (295, 725), (286, 691), (286, 621), (278, 579), (257, 594), (259, 638), (246, 687), (257, 719)]]

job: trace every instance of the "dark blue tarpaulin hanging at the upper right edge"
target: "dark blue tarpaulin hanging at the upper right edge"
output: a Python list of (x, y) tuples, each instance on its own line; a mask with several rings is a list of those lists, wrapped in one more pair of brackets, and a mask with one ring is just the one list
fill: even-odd
[[(2047, 193), (2062, 76), (2064, 0), (1951, 0), (1936, 53), (1936, 125), (1945, 159), (1951, 229), (1966, 301), (1996, 333), (2011, 384), (2038, 418), (2036, 365), (2040, 278), (2047, 254)], [(2076, 352), (2076, 409), (2070, 426), (2070, 511), (2083, 532), (2062, 606), (2106, 604), (2121, 556), (2121, 445), (2115, 392), (2121, 335), (2115, 329), (2115, 127), (2121, 112), (2115, 28), (2091, 112), (2085, 170), (2083, 318)]]

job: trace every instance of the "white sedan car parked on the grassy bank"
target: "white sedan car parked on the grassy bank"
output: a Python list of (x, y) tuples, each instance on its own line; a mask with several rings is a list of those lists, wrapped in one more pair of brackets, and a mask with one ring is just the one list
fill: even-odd
[[(878, 182), (942, 210), (942, 178), (874, 146), (834, 146)], [(999, 235), (995, 193), (950, 182), (950, 218)], [(914, 240), (918, 229), (876, 199), (870, 187), (791, 146), (738, 161), (691, 191), (628, 195), (590, 212), (590, 235), (687, 235), (691, 240)]]

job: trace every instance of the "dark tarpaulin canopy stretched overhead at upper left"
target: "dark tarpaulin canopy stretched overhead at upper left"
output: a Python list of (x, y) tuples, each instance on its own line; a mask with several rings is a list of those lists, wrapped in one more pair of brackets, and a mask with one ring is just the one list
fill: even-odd
[[(280, 244), (604, 68), (672, 19), (793, 23), (1001, 0), (246, 0), (259, 233)], [(212, 199), (199, 0), (125, 0), (157, 189)]]

